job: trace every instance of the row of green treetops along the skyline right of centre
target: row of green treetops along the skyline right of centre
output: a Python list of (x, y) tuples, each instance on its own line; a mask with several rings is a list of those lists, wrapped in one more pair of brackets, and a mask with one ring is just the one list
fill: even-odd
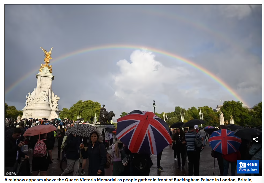
[[(203, 126), (214, 126), (218, 127), (220, 124), (219, 113), (214, 112), (213, 108), (208, 106), (203, 107), (191, 107), (188, 110), (176, 106), (174, 111), (165, 113), (167, 115), (167, 124), (171, 125), (176, 122), (181, 122), (181, 111), (184, 113), (184, 122), (187, 122), (191, 119), (200, 119), (199, 112), (203, 113), (203, 120), (206, 122)], [(224, 114), (225, 121), (230, 124), (230, 116), (233, 116), (234, 123), (245, 126), (250, 125), (252, 127), (262, 126), (262, 102), (259, 102), (254, 106), (253, 110), (244, 108), (241, 102), (235, 101), (225, 101), (223, 107), (221, 108), (222, 113)], [(121, 113), (121, 117), (126, 115), (126, 112)], [(156, 116), (164, 119), (164, 112), (161, 114), (155, 113)]]

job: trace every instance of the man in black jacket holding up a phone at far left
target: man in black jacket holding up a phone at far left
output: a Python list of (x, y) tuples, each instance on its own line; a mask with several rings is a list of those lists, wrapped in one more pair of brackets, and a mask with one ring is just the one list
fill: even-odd
[(20, 158), (29, 158), (21, 151), (21, 147), (25, 144), (24, 141), (17, 143), (22, 131), (20, 128), (15, 128), (14, 132), (4, 139), (4, 173), (7, 175), (16, 175)]

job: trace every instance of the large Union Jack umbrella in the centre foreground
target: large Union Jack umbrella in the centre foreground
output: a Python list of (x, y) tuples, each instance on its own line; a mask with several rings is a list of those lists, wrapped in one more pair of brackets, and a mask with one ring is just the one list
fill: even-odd
[(132, 153), (158, 155), (172, 143), (169, 130), (153, 112), (135, 110), (117, 119), (116, 138)]

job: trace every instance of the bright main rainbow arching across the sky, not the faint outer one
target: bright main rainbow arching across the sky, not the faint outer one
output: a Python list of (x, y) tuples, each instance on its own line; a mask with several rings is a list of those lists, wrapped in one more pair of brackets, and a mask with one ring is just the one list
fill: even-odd
[[(238, 96), (238, 94), (230, 87), (228, 86), (224, 81), (222, 81), (220, 78), (218, 78), (216, 75), (214, 75), (212, 72), (206, 70), (205, 68), (199, 66), (198, 64), (196, 64), (193, 61), (187, 60), (181, 56), (178, 56), (176, 54), (173, 53), (169, 53), (163, 50), (158, 50), (156, 48), (149, 48), (146, 46), (137, 46), (137, 45), (101, 45), (101, 46), (96, 46), (96, 47), (90, 47), (90, 48), (84, 48), (81, 50), (77, 50), (77, 51), (73, 51), (71, 53), (68, 53), (66, 55), (62, 55), (57, 59), (54, 59), (53, 61), (51, 60), (51, 64), (54, 64), (56, 62), (59, 61), (63, 61), (65, 59), (69, 59), (73, 56), (82, 54), (82, 53), (88, 53), (91, 51), (99, 51), (99, 50), (108, 50), (108, 49), (142, 49), (142, 48), (147, 48), (148, 51), (154, 52), (154, 53), (158, 53), (161, 55), (165, 55), (168, 57), (171, 57), (173, 59), (177, 59), (179, 61), (182, 61), (192, 67), (194, 67), (197, 70), (200, 70), (201, 72), (203, 72), (205, 75), (208, 75), (210, 78), (212, 78), (214, 81), (216, 81), (217, 83), (219, 83), (219, 85), (221, 85), (223, 88), (225, 88), (236, 100), (242, 102), (244, 105), (245, 102), (241, 99), (241, 97)], [(36, 74), (36, 72), (38, 72), (39, 67), (36, 68), (36, 70), (32, 70), (32, 72), (27, 73), (26, 75), (24, 75), (23, 77), (21, 77), (18, 81), (16, 81), (15, 83), (13, 83), (11, 86), (9, 86), (7, 88), (7, 90), (5, 90), (5, 95), (8, 94), (9, 92), (11, 92), (13, 89), (15, 89), (15, 87), (18, 86), (19, 83), (21, 83), (23, 80), (25, 80), (26, 78), (28, 78), (29, 76)]]

